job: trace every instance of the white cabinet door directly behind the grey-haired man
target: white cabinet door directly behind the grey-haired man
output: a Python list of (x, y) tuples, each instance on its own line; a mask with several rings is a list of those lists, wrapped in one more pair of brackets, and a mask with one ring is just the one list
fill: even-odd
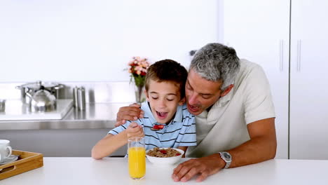
[(264, 68), (275, 104), (276, 158), (288, 158), (289, 0), (227, 0), (221, 41)]

